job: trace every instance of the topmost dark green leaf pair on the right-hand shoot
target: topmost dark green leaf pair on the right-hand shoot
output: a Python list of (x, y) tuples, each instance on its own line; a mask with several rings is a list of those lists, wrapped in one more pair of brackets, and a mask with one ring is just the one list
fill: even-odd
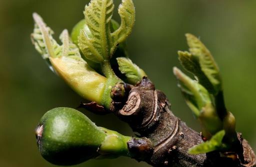
[(184, 69), (196, 76), (198, 82), (209, 93), (216, 95), (222, 90), (219, 69), (204, 44), (192, 34), (186, 34), (189, 52), (178, 51), (178, 58)]

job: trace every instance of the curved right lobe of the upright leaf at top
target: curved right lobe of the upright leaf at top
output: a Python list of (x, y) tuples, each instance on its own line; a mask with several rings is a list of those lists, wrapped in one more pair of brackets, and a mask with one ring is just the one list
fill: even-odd
[(119, 5), (118, 13), (121, 17), (121, 25), (119, 28), (111, 33), (113, 44), (110, 53), (113, 54), (116, 46), (122, 43), (131, 33), (135, 21), (135, 8), (132, 0), (122, 0)]

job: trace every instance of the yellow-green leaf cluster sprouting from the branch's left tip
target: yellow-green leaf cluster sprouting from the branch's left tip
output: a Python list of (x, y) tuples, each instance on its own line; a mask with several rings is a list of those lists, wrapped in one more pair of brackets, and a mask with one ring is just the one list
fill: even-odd
[[(79, 30), (72, 32), (73, 41), (69, 38), (67, 30), (64, 30), (60, 35), (61, 45), (53, 39), (53, 31), (36, 13), (33, 14), (35, 27), (31, 34), (36, 50), (46, 60), (50, 69), (84, 99), (94, 101), (105, 108), (111, 103), (111, 87), (122, 82), (111, 69), (110, 58), (119, 45), (118, 49), (123, 52), (121, 56), (126, 56), (123, 43), (131, 33), (135, 20), (132, 0), (122, 0), (119, 5), (120, 25), (111, 19), (113, 8), (113, 0), (91, 0), (85, 6), (85, 19), (77, 24)], [(86, 61), (90, 61), (89, 64)], [(101, 64), (101, 69), (94, 68), (96, 66), (93, 66), (91, 61)], [(136, 84), (145, 76), (144, 71), (128, 58), (118, 58), (117, 63), (129, 84)], [(102, 71), (103, 75), (95, 70)]]

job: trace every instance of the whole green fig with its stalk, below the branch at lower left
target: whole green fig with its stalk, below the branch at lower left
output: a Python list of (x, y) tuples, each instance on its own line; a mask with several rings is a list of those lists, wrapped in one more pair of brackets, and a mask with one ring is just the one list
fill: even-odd
[(95, 158), (129, 156), (125, 137), (97, 127), (71, 108), (55, 108), (43, 115), (35, 130), (42, 157), (55, 165), (75, 165)]

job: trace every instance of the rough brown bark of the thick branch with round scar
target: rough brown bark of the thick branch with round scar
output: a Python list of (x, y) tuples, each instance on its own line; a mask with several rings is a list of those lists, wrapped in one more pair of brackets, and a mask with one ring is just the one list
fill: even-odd
[(137, 161), (153, 167), (256, 167), (255, 154), (239, 134), (232, 152), (188, 154), (202, 137), (172, 114), (166, 96), (147, 78), (131, 88), (125, 103), (113, 101), (110, 111), (144, 137), (127, 143)]

